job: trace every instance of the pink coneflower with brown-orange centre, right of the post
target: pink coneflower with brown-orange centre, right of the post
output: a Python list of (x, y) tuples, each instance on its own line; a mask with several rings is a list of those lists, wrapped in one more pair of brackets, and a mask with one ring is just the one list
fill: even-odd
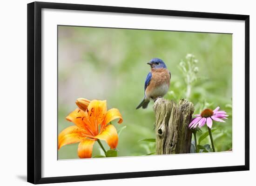
[(214, 110), (211, 109), (204, 109), (201, 114), (196, 114), (195, 119), (192, 120), (189, 124), (189, 128), (196, 128), (198, 126), (201, 128), (202, 126), (207, 124), (209, 128), (212, 127), (212, 121), (215, 120), (216, 122), (225, 122), (222, 119), (228, 119), (227, 113), (223, 110), (220, 110), (220, 107), (217, 107)]

